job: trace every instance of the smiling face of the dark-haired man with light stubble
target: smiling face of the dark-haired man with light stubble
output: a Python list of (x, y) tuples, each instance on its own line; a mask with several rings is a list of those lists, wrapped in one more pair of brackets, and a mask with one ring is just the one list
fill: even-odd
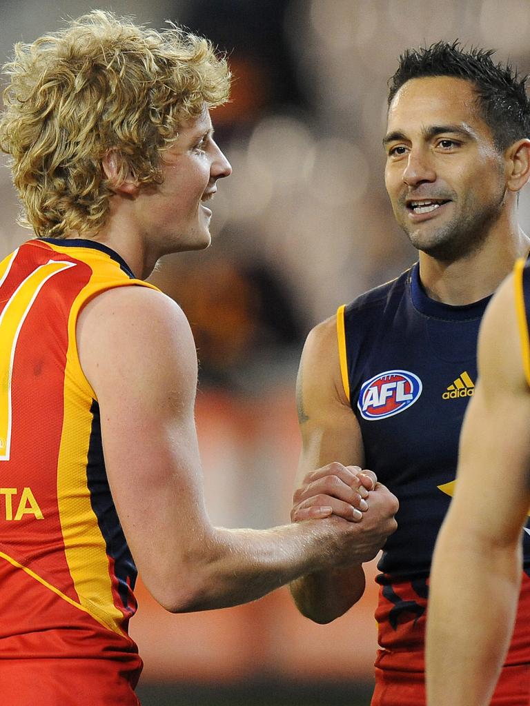
[(413, 246), (454, 261), (481, 246), (505, 203), (505, 160), (469, 81), (414, 78), (388, 113), (385, 184)]

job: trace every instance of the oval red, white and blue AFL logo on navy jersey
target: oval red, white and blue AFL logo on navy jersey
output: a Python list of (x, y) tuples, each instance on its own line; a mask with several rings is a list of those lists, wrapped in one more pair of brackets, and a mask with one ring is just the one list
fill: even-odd
[(421, 395), (420, 378), (406, 370), (389, 370), (367, 380), (357, 406), (364, 419), (385, 419), (403, 412)]

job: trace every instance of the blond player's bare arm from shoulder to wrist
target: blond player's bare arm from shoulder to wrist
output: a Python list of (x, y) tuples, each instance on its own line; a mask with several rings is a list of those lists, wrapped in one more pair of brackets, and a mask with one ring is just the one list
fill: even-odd
[(145, 287), (111, 289), (81, 311), (77, 340), (119, 519), (165, 608), (247, 602), (362, 554), (358, 525), (337, 517), (263, 531), (211, 525), (194, 423), (196, 352), (175, 302)]

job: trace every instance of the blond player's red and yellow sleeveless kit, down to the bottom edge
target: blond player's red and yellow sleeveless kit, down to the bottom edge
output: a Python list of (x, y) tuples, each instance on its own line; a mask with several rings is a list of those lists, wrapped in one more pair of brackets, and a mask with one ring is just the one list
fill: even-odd
[(95, 241), (32, 240), (0, 263), (0, 694), (12, 705), (137, 703), (136, 567), (76, 348), (83, 305), (125, 285), (151, 287)]

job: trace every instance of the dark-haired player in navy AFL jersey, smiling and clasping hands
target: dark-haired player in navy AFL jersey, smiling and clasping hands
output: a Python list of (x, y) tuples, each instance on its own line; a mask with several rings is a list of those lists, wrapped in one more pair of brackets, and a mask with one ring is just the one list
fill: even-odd
[[(379, 563), (373, 706), (425, 704), (430, 561), (474, 391), (478, 325), (530, 246), (517, 224), (517, 194), (530, 175), (529, 102), (524, 80), (491, 54), (440, 42), (401, 57), (389, 92), (385, 182), (419, 261), (318, 325), (302, 354), (293, 511), (325, 503), (343, 515), (341, 479), (310, 472), (332, 458), (367, 464), (399, 498), (398, 530)], [(529, 549), (498, 705), (520, 706), (529, 694)], [(352, 566), (300, 578), (292, 591), (303, 614), (326, 623), (358, 600), (364, 582), (363, 568)]]

